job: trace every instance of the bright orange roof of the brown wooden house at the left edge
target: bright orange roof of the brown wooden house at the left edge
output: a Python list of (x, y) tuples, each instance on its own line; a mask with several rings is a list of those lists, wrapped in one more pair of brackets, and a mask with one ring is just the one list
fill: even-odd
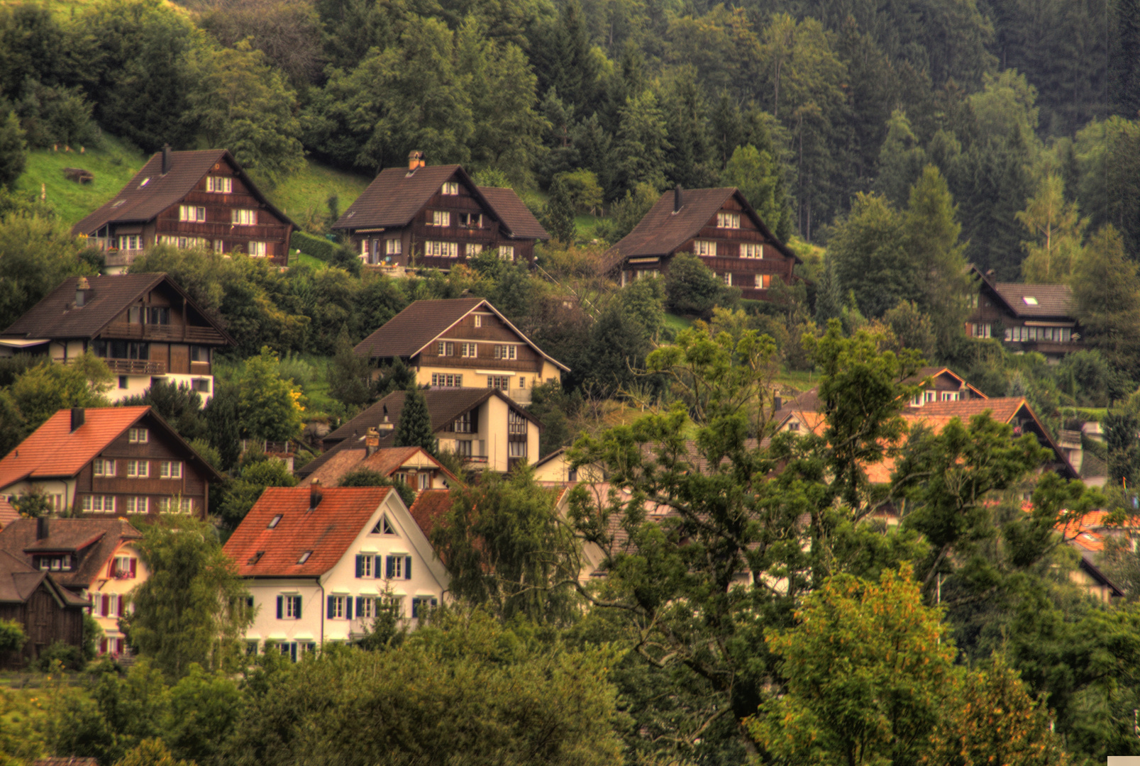
[(60, 409), (0, 459), (0, 489), (25, 479), (74, 476), (145, 415), (150, 415), (160, 427), (177, 439), (212, 481), (221, 480), (213, 466), (149, 406), (88, 407), (83, 411), (83, 425), (74, 431), (71, 429), (71, 410)]

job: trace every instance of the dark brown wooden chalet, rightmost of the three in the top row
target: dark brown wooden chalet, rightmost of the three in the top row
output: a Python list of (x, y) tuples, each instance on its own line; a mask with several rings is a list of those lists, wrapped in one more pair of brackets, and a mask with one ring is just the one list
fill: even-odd
[(677, 253), (694, 253), (724, 284), (748, 299), (766, 300), (773, 280), (792, 280), (800, 263), (736, 188), (682, 189), (657, 204), (606, 253), (611, 272), (625, 285), (656, 277)]

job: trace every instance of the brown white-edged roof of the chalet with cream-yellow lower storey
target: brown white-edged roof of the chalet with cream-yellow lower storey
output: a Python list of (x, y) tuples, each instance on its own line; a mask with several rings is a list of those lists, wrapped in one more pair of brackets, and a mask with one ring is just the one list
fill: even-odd
[(538, 348), (523, 335), (511, 320), (504, 317), (490, 302), (481, 298), (450, 298), (433, 301), (415, 301), (408, 308), (385, 321), (372, 335), (357, 343), (353, 351), (368, 358), (400, 357), (409, 359), (437, 337), (454, 327), (456, 323), (475, 309), (483, 308), (503, 320), (527, 345), (552, 365), (569, 373), (570, 368)]

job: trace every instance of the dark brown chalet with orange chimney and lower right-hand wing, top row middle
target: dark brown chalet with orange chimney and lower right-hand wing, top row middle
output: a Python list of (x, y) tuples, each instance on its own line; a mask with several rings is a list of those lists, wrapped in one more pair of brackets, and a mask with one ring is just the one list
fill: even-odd
[(475, 186), (459, 165), (429, 168), (422, 152), (407, 170), (381, 171), (333, 230), (368, 266), (443, 270), (487, 250), (529, 263), (535, 242), (551, 238), (513, 189)]

